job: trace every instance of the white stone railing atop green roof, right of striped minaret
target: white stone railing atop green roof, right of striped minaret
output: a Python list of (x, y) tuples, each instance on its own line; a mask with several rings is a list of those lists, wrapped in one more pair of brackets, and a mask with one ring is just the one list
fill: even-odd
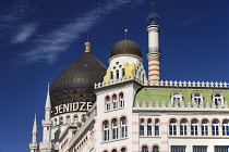
[(208, 81), (172, 81), (172, 80), (160, 80), (160, 81), (148, 81), (148, 86), (159, 87), (195, 87), (195, 88), (229, 88), (228, 83), (208, 83)]

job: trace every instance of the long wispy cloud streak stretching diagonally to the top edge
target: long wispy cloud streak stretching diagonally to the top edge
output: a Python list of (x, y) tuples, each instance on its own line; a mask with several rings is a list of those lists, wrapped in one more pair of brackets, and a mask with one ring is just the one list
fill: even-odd
[(46, 36), (39, 36), (35, 42), (36, 48), (20, 54), (23, 63), (47, 61), (53, 63), (59, 54), (67, 50), (71, 42), (75, 41), (80, 34), (87, 31), (98, 24), (107, 14), (121, 8), (132, 0), (112, 0), (104, 5), (87, 11), (81, 17), (73, 18), (73, 22), (61, 28), (52, 30)]

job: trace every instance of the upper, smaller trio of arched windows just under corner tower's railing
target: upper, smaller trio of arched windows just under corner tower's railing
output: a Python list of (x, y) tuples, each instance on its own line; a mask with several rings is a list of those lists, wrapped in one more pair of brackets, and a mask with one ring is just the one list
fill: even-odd
[(119, 98), (117, 97), (117, 94), (113, 94), (112, 98), (110, 98), (109, 96), (105, 98), (106, 111), (117, 110), (121, 107), (124, 107), (124, 97), (122, 92), (119, 93)]

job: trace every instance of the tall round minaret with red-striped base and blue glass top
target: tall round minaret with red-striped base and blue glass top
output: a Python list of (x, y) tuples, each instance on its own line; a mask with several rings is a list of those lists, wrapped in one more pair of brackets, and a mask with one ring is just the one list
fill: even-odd
[(159, 16), (154, 11), (148, 15), (148, 81), (160, 80)]

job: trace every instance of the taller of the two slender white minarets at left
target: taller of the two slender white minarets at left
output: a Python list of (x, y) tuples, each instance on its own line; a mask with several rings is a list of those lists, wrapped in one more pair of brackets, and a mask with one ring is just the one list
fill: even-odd
[(51, 101), (49, 96), (49, 84), (48, 84), (48, 92), (46, 98), (46, 106), (45, 106), (45, 119), (43, 119), (43, 142), (40, 143), (40, 152), (51, 152)]

